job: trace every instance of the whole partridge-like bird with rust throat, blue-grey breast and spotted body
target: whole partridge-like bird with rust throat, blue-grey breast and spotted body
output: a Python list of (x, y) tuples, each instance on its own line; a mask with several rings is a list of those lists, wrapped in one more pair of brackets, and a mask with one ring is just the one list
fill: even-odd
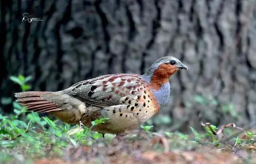
[(90, 127), (92, 121), (108, 118), (93, 130), (119, 134), (136, 129), (163, 108), (170, 96), (169, 78), (181, 69), (188, 67), (165, 56), (143, 75), (102, 75), (60, 91), (25, 91), (14, 96), (28, 110), (50, 113), (69, 124)]

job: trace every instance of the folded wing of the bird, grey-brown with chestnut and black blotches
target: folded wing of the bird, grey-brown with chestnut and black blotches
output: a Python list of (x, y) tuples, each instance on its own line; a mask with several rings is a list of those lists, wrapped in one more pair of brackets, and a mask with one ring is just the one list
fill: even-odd
[(137, 74), (113, 74), (81, 81), (64, 90), (65, 93), (98, 107), (120, 104), (125, 96), (136, 96), (145, 82)]

